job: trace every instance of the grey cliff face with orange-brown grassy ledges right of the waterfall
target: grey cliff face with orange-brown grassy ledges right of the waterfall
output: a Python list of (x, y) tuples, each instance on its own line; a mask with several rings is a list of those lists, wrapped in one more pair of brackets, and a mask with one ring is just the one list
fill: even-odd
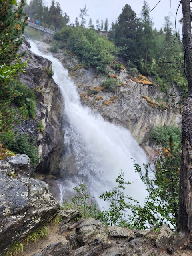
[[(55, 56), (69, 69), (70, 76), (78, 85), (82, 103), (100, 112), (104, 119), (128, 128), (139, 144), (147, 140), (152, 126), (180, 124), (181, 115), (175, 114), (178, 110), (173, 112), (160, 108), (158, 102), (171, 99), (149, 80), (131, 78), (126, 69), (111, 69), (109, 73), (111, 77), (117, 77), (119, 86), (113, 91), (104, 90), (102, 82), (106, 76), (97, 76), (92, 68), (82, 68), (74, 56)], [(90, 90), (98, 93), (91, 94)]]

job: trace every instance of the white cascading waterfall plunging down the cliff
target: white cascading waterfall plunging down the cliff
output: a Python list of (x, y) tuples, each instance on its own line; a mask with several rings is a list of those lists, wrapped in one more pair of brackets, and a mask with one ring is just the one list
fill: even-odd
[[(104, 204), (98, 196), (116, 186), (115, 179), (120, 170), (125, 173), (125, 179), (133, 182), (128, 186), (127, 194), (143, 203), (146, 196), (144, 184), (135, 173), (133, 160), (142, 166), (146, 163), (146, 155), (130, 132), (125, 128), (106, 122), (99, 114), (88, 107), (82, 106), (77, 86), (68, 76), (61, 62), (51, 54), (43, 54), (33, 42), (31, 51), (52, 62), (54, 81), (60, 87), (65, 101), (65, 114), (68, 121), (65, 124), (65, 145), (68, 154), (73, 152), (73, 165), (76, 169), (76, 180), (67, 177), (59, 182), (60, 192), (64, 195), (72, 190), (72, 184), (81, 180), (89, 187), (100, 207)], [(62, 139), (62, 138), (61, 138)], [(67, 185), (68, 184), (68, 185)], [(66, 187), (68, 186), (68, 187)], [(60, 197), (60, 202), (62, 198)]]

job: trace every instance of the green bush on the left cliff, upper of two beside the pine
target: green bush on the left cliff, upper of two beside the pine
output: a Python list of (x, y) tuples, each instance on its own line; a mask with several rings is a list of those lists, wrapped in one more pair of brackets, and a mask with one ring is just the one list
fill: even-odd
[(11, 82), (12, 86), (15, 86), (15, 90), (19, 92), (19, 95), (14, 98), (14, 103), (18, 107), (26, 108), (26, 116), (35, 116), (35, 94), (34, 92), (26, 86), (26, 84), (20, 82), (19, 80), (14, 80)]

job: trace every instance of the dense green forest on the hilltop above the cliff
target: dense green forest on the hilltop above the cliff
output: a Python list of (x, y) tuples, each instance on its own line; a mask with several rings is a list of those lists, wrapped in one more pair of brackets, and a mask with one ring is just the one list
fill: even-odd
[[(136, 15), (131, 6), (126, 4), (118, 20), (109, 27), (107, 18), (105, 22), (97, 19), (94, 26), (92, 19), (88, 19), (86, 6), (80, 9), (75, 24), (70, 23), (70, 17), (54, 0), (49, 8), (42, 0), (31, 0), (24, 7), (31, 21), (38, 19), (40, 25), (60, 30), (54, 36), (53, 51), (67, 46), (85, 66), (92, 65), (100, 72), (104, 72), (104, 67), (101, 68), (99, 62), (108, 64), (116, 59), (123, 62), (133, 76), (138, 73), (150, 76), (164, 91), (173, 82), (185, 88), (186, 79), (180, 64), (184, 56), (180, 35), (174, 31), (170, 16), (164, 18), (164, 26), (159, 31), (154, 28), (149, 10), (147, 1), (144, 1), (140, 15)], [(100, 31), (103, 36), (97, 36)], [(102, 44), (106, 52), (111, 54), (107, 58)], [(102, 51), (99, 56), (102, 58), (104, 54), (104, 59), (94, 58), (97, 64), (90, 63), (92, 55), (98, 56), (96, 48), (98, 52)], [(90, 54), (86, 54), (86, 51)]]

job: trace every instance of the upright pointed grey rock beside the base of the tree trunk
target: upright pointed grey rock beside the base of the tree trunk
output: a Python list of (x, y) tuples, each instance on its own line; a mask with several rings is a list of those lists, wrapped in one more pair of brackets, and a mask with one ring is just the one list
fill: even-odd
[(157, 248), (164, 248), (167, 244), (171, 243), (174, 238), (174, 233), (170, 230), (170, 228), (163, 224), (161, 230), (158, 234), (158, 237), (155, 241)]

